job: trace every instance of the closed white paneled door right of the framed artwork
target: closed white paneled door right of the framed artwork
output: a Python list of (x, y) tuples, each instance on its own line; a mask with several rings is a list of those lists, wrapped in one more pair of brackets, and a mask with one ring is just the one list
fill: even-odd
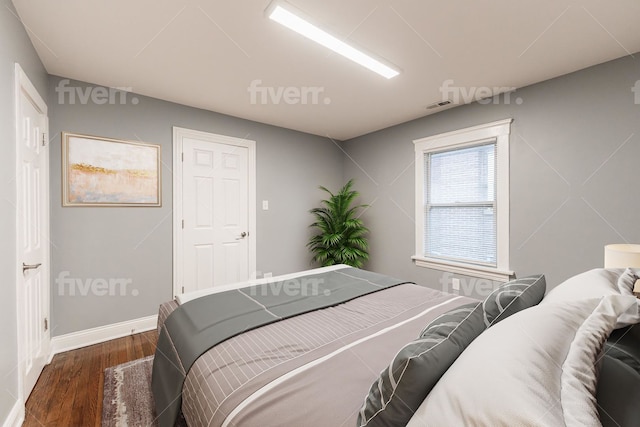
[(246, 281), (255, 269), (250, 220), (252, 147), (246, 140), (212, 134), (180, 139), (179, 292)]

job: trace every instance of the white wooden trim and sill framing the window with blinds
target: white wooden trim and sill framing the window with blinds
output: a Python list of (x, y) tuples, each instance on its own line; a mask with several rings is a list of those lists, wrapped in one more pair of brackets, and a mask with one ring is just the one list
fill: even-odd
[[(509, 135), (512, 122), (513, 119), (499, 120), (413, 141), (416, 165), (416, 254), (412, 259), (417, 266), (501, 282), (513, 276), (513, 271), (509, 269)], [(496, 142), (496, 267), (425, 257), (425, 154), (477, 146), (494, 140)]]

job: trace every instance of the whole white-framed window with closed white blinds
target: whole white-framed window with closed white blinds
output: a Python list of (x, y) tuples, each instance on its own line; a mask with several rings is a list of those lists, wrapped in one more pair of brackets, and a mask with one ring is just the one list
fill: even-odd
[(416, 264), (492, 280), (509, 270), (511, 119), (414, 141)]

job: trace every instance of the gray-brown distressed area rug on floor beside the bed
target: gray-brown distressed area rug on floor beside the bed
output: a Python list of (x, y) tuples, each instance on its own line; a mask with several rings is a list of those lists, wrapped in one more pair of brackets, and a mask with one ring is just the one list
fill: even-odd
[[(151, 394), (153, 356), (104, 371), (103, 427), (157, 426)], [(178, 426), (186, 427), (182, 416)]]

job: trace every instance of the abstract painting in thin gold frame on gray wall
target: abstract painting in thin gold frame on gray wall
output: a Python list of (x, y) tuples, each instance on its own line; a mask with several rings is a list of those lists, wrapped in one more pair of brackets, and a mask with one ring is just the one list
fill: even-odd
[(161, 206), (160, 145), (62, 133), (63, 206)]

